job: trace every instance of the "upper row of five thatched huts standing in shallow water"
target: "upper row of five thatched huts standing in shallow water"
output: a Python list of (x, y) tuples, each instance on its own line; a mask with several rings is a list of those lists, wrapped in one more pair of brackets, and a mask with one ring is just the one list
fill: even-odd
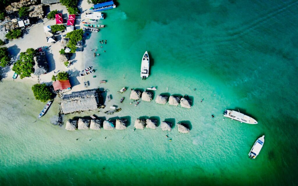
[[(145, 90), (143, 93), (139, 90), (133, 90), (131, 89), (130, 99), (138, 100), (142, 97), (143, 101), (152, 101), (153, 93), (149, 92), (148, 90)], [(158, 95), (155, 99), (155, 102), (158, 104), (166, 104), (168, 101), (168, 96), (165, 95)], [(178, 106), (179, 104), (181, 107), (184, 108), (190, 108), (191, 107), (191, 100), (188, 96), (170, 96), (169, 97), (169, 104)]]

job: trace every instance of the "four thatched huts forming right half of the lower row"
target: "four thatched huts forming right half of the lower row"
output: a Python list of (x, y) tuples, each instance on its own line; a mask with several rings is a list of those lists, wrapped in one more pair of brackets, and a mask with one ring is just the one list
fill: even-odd
[[(190, 132), (190, 126), (185, 123), (178, 123), (176, 124), (178, 126), (178, 131), (181, 133), (188, 133)], [(156, 129), (157, 128), (157, 120), (155, 119), (136, 119), (134, 122), (134, 127), (136, 129)], [(160, 128), (163, 131), (171, 131), (173, 127), (173, 124), (169, 121), (162, 121), (160, 124)]]

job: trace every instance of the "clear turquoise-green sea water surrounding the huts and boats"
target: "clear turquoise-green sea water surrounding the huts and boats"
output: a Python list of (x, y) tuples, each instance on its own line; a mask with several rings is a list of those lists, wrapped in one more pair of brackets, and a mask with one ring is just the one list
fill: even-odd
[[(105, 104), (122, 110), (112, 116), (89, 111), (64, 119), (125, 116), (131, 126), (68, 132), (49, 124), (58, 100), (32, 123), (44, 104), (34, 100), (31, 85), (4, 81), (0, 184), (297, 185), (297, 1), (118, 2), (116, 9), (105, 11), (106, 27), (87, 40), (85, 59), (86, 66), (97, 69), (97, 77), (88, 79), (90, 87), (108, 89), (113, 99)], [(108, 40), (102, 49), (101, 39)], [(101, 55), (93, 58), (89, 47), (96, 46)], [(145, 50), (152, 66), (150, 77), (142, 81)], [(134, 107), (130, 91), (116, 93), (123, 86), (157, 86), (155, 95), (188, 94), (193, 107), (154, 101)], [(239, 109), (259, 123), (223, 121), (226, 108)], [(134, 120), (141, 116), (189, 121), (192, 130), (133, 132)], [(247, 154), (262, 135), (264, 147), (250, 160)]]

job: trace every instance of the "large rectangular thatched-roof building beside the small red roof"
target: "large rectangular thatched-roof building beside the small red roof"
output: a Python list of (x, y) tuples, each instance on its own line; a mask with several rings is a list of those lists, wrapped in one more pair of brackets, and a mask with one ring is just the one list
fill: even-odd
[(60, 97), (60, 112), (69, 114), (86, 110), (95, 110), (99, 104), (100, 94), (96, 90), (83, 90), (64, 94)]

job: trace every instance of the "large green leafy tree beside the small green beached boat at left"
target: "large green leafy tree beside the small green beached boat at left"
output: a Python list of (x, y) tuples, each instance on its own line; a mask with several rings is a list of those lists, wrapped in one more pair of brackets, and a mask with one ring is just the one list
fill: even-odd
[(13, 71), (19, 74), (20, 78), (30, 77), (34, 72), (34, 56), (36, 51), (32, 48), (27, 49), (26, 52), (21, 52), (20, 59), (13, 64)]

